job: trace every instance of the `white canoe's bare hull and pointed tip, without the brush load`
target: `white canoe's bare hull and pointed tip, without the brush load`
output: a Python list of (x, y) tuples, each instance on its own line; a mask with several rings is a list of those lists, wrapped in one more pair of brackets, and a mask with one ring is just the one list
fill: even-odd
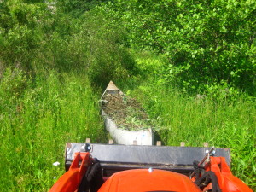
[[(102, 98), (106, 94), (123, 95), (123, 92), (119, 90), (119, 88), (117, 88), (112, 81), (110, 81), (107, 89), (102, 94)], [(154, 135), (151, 128), (136, 130), (136, 131), (119, 129), (118, 125), (115, 124), (113, 119), (108, 117), (108, 115), (104, 112), (103, 109), (102, 109), (102, 116), (105, 119), (105, 127), (107, 131), (109, 132), (110, 136), (113, 137), (113, 140), (116, 143), (124, 144), (124, 145), (132, 145), (134, 143), (137, 143), (137, 145), (153, 145), (154, 144)]]

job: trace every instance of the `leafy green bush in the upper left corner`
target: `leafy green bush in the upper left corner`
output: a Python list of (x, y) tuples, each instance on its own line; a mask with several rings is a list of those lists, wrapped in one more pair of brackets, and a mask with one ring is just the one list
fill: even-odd
[(0, 60), (32, 70), (34, 57), (42, 41), (39, 24), (47, 12), (44, 3), (28, 4), (21, 0), (2, 1), (0, 10)]

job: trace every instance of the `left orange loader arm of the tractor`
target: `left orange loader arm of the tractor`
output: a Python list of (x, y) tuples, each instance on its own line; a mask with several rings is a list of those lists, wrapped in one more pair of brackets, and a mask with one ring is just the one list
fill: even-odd
[(79, 189), (79, 184), (90, 164), (90, 153), (76, 153), (68, 172), (58, 179), (49, 192), (73, 192)]

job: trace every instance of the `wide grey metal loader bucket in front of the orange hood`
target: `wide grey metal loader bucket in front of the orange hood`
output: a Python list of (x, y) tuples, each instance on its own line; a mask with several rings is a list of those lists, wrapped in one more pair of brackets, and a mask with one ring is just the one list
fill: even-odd
[[(87, 147), (86, 147), (87, 146)], [(193, 172), (193, 161), (201, 161), (211, 148), (108, 145), (91, 143), (67, 143), (65, 167), (68, 170), (76, 152), (90, 151), (101, 161), (103, 176), (129, 169), (149, 168), (180, 172)], [(214, 156), (224, 157), (230, 166), (230, 148), (214, 148)]]

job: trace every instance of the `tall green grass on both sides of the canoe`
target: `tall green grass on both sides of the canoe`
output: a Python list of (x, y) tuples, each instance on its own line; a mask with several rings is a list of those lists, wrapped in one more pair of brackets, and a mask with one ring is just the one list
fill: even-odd
[[(231, 148), (232, 172), (255, 189), (253, 99), (189, 96), (139, 75), (116, 84), (143, 103), (163, 143)], [(53, 70), (30, 77), (7, 69), (0, 82), (0, 191), (47, 191), (64, 172), (65, 143), (86, 137), (106, 143), (99, 94), (78, 73)], [(55, 161), (61, 165), (53, 166)]]

